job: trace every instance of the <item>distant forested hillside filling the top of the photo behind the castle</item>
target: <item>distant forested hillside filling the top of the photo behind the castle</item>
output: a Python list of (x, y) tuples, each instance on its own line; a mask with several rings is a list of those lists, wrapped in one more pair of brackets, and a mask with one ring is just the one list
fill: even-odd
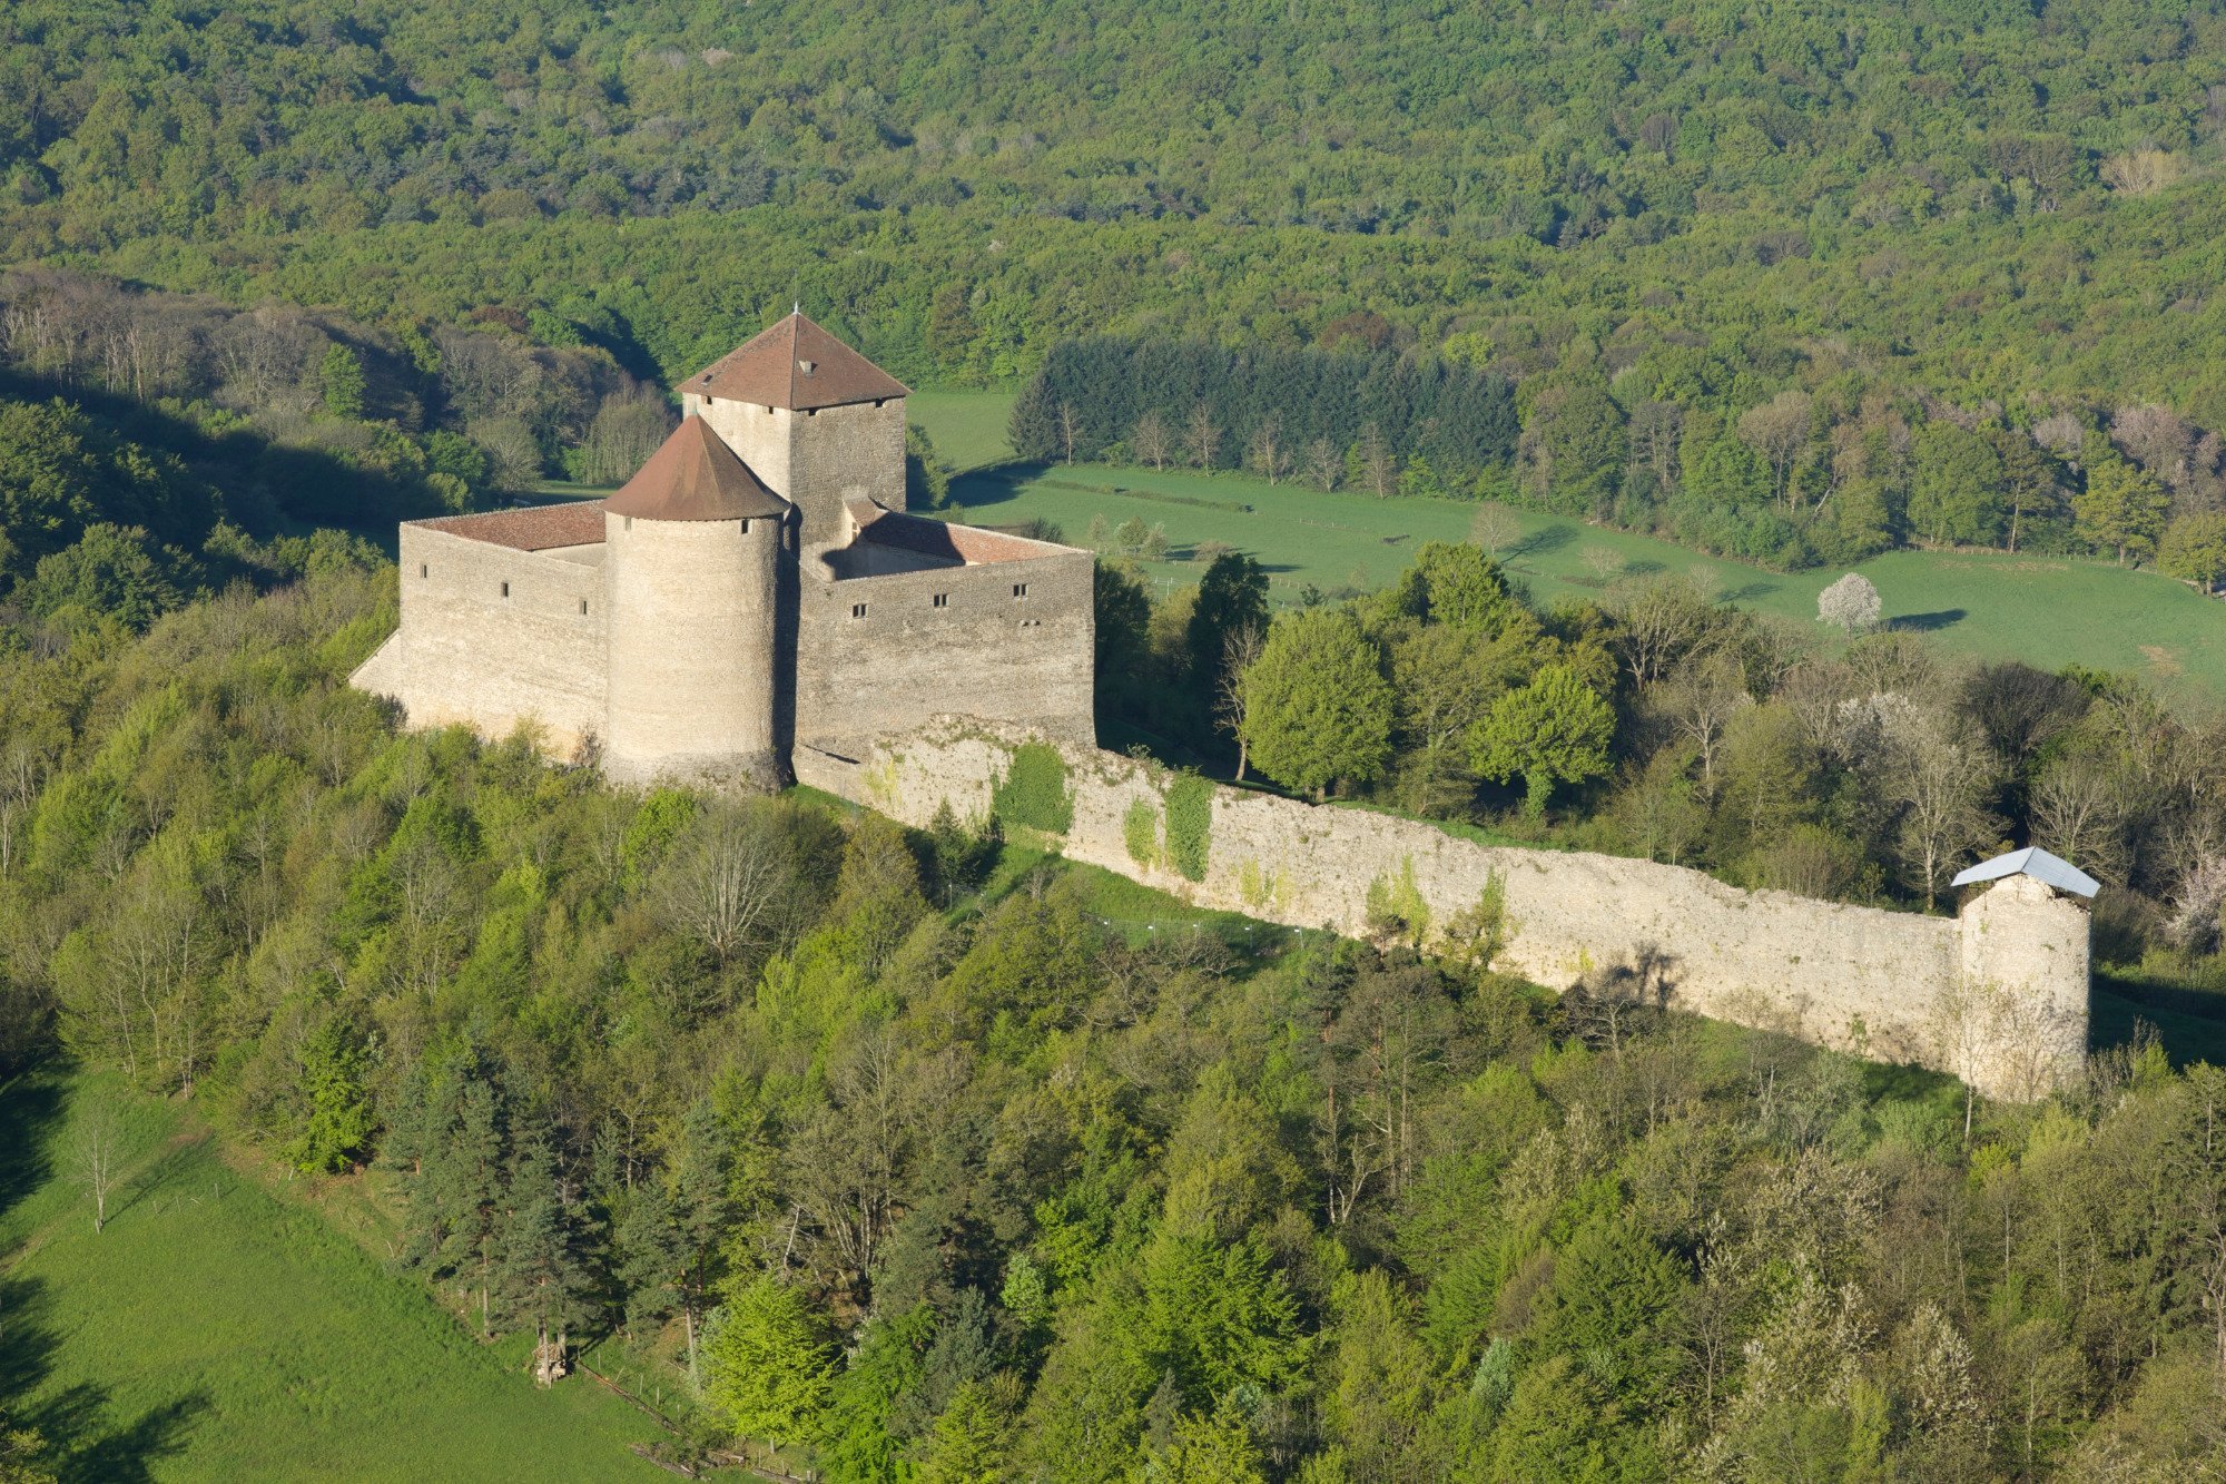
[(2226, 421), (2215, 4), (223, 13), (18, 4), (7, 256), (668, 374), (801, 290), (919, 379), (1353, 314), (1538, 368), (1656, 325)]

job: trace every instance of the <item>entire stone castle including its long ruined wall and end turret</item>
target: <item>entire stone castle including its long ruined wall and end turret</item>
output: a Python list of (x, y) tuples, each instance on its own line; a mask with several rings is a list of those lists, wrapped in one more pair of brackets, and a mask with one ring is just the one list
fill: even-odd
[(1213, 787), (1175, 869), (1171, 775), (1095, 746), (1091, 553), (908, 515), (906, 388), (804, 314), (681, 399), (610, 499), (405, 524), (401, 626), (356, 684), (617, 782), (801, 780), (910, 824), (988, 816), (1020, 749), (1051, 749), (1048, 842), (1200, 907), (1358, 936), (1396, 900), (1447, 945), (1498, 902), (1496, 963), (1556, 989), (1621, 976), (1992, 1096), (2081, 1065), (2095, 882), (2039, 851), (1966, 871), (1981, 891), (1932, 918)]

